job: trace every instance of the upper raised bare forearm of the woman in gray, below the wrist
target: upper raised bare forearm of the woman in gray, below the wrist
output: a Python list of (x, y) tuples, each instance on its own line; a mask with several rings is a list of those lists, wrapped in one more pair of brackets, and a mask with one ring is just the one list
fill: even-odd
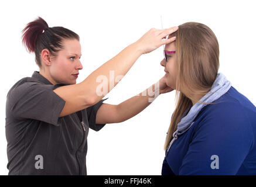
[[(128, 70), (134, 65), (135, 61), (141, 56), (141, 50), (139, 49), (136, 43), (132, 43), (124, 50), (122, 50), (117, 56), (111, 58), (101, 65), (97, 70), (93, 71), (81, 84), (84, 85), (84, 88), (87, 88), (86, 95), (88, 98), (93, 98), (94, 103), (97, 103), (102, 99), (108, 92), (114, 88), (115, 85), (121, 80), (121, 78), (127, 74)], [(114, 75), (110, 78), (110, 72), (114, 72)], [(99, 83), (97, 78), (105, 77), (105, 79)], [(116, 79), (118, 77), (118, 80)], [(111, 85), (110, 85), (111, 84)], [(107, 88), (107, 92), (98, 93), (99, 88)]]

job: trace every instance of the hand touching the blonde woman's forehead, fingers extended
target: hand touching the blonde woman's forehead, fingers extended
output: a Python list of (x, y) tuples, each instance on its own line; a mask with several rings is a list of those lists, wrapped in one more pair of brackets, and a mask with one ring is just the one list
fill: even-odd
[(151, 51), (158, 49), (158, 47), (164, 44), (175, 41), (176, 37), (171, 37), (170, 39), (165, 38), (169, 34), (176, 32), (178, 29), (179, 27), (170, 27), (169, 29), (152, 28), (135, 43), (138, 44), (142, 54), (150, 53)]

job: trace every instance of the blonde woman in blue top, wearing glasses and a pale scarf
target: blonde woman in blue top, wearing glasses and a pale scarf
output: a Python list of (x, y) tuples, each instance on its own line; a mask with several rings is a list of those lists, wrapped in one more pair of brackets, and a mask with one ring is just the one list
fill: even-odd
[(178, 102), (162, 175), (255, 175), (256, 108), (218, 73), (215, 34), (202, 23), (187, 22), (173, 36), (161, 65)]

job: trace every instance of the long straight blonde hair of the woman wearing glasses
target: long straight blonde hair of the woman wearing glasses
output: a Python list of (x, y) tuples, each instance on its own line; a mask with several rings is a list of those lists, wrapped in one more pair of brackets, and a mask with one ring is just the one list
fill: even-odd
[(169, 37), (173, 36), (176, 36), (176, 106), (166, 136), (165, 150), (183, 113), (193, 106), (193, 95), (209, 92), (219, 70), (219, 43), (209, 27), (187, 22)]

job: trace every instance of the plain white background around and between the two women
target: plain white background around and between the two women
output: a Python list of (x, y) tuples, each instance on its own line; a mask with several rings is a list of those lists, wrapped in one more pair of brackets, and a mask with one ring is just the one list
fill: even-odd
[[(83, 81), (152, 27), (200, 22), (216, 34), (220, 70), (238, 92), (254, 105), (255, 96), (254, 1), (1, 1), (1, 112), (0, 174), (7, 175), (5, 138), (6, 95), (15, 82), (39, 71), (34, 54), (21, 43), (21, 31), (37, 16), (49, 27), (63, 26), (80, 35)], [(118, 104), (144, 91), (164, 75), (162, 50), (141, 56), (128, 74), (105, 98)], [(160, 175), (163, 144), (175, 108), (175, 91), (160, 95), (137, 116), (107, 124), (88, 135), (88, 175)]]

